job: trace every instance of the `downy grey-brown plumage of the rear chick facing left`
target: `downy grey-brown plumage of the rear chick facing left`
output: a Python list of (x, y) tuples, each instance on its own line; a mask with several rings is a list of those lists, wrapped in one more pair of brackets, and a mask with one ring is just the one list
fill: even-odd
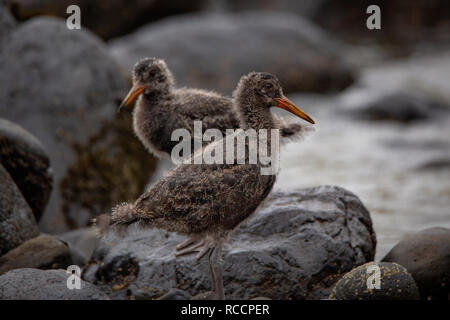
[[(154, 74), (149, 76), (148, 73)], [(239, 128), (239, 117), (233, 100), (212, 91), (176, 88), (175, 80), (164, 60), (145, 58), (134, 67), (133, 82), (148, 85), (133, 112), (136, 136), (154, 155), (161, 157), (172, 152), (178, 141), (171, 141), (175, 129), (186, 129), (194, 146), (194, 121), (202, 121), (202, 132)], [(281, 137), (289, 139), (305, 132), (302, 124), (275, 121)]]

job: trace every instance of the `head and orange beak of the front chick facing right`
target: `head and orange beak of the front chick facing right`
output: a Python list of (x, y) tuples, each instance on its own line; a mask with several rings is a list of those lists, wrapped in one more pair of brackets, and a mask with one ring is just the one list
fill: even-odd
[(243, 76), (233, 96), (235, 99), (251, 100), (248, 102), (253, 106), (278, 107), (312, 124), (315, 123), (313, 119), (286, 98), (277, 77), (267, 72), (251, 72)]

